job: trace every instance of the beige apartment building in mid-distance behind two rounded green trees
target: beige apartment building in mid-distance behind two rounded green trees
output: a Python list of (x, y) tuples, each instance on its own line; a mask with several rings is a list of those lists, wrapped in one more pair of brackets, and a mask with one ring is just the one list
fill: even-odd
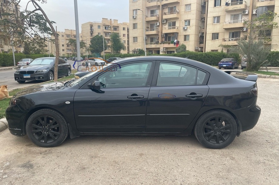
[(87, 45), (90, 44), (90, 40), (95, 35), (103, 35), (107, 43), (107, 49), (105, 54), (111, 53), (111, 40), (110, 35), (112, 33), (119, 33), (122, 42), (124, 43), (126, 49), (121, 50), (121, 53), (127, 53), (129, 51), (129, 23), (123, 22), (118, 23), (116, 19), (102, 18), (101, 22), (86, 22), (81, 25), (82, 40), (86, 42)]

